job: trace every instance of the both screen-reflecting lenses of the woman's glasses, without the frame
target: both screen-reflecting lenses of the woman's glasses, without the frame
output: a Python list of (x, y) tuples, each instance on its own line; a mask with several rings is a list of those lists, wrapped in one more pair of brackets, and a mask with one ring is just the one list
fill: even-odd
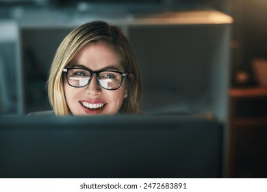
[[(68, 71), (68, 83), (72, 86), (86, 86), (90, 81), (92, 74), (90, 71), (84, 69), (70, 69)], [(115, 71), (101, 71), (98, 74), (99, 84), (103, 88), (116, 89), (120, 86), (122, 80), (122, 75), (116, 73)]]

